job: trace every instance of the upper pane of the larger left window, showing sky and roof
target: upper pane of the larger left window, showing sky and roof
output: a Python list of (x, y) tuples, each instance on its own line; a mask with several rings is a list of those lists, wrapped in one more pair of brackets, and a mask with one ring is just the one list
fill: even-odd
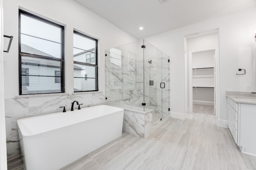
[(20, 16), (22, 53), (61, 58), (61, 28), (24, 14)]

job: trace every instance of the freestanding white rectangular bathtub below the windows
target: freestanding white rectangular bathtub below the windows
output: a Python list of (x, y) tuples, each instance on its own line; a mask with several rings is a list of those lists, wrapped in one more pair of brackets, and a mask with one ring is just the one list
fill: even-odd
[(99, 105), (18, 120), (26, 170), (58, 170), (122, 135), (124, 109)]

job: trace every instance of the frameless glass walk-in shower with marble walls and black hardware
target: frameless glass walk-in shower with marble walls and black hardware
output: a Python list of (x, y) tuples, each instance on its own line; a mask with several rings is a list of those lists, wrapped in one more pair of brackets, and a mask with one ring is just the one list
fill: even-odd
[(169, 114), (169, 57), (145, 40), (106, 50), (106, 103), (152, 111), (152, 123)]

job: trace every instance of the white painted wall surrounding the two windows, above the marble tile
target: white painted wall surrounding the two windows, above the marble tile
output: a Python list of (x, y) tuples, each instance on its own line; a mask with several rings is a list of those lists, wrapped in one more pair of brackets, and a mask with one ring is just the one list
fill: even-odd
[(14, 36), (10, 55), (5, 57), (5, 98), (18, 96), (18, 8), (26, 8), (65, 26), (65, 86), (73, 92), (73, 29), (100, 39), (100, 90), (104, 90), (105, 49), (136, 41), (134, 37), (73, 0), (4, 0), (4, 34)]

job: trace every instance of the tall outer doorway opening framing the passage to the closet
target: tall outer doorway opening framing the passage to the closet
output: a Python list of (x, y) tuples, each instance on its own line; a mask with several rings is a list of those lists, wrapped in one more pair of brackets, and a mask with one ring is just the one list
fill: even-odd
[(218, 30), (187, 36), (185, 42), (188, 112), (216, 115)]

